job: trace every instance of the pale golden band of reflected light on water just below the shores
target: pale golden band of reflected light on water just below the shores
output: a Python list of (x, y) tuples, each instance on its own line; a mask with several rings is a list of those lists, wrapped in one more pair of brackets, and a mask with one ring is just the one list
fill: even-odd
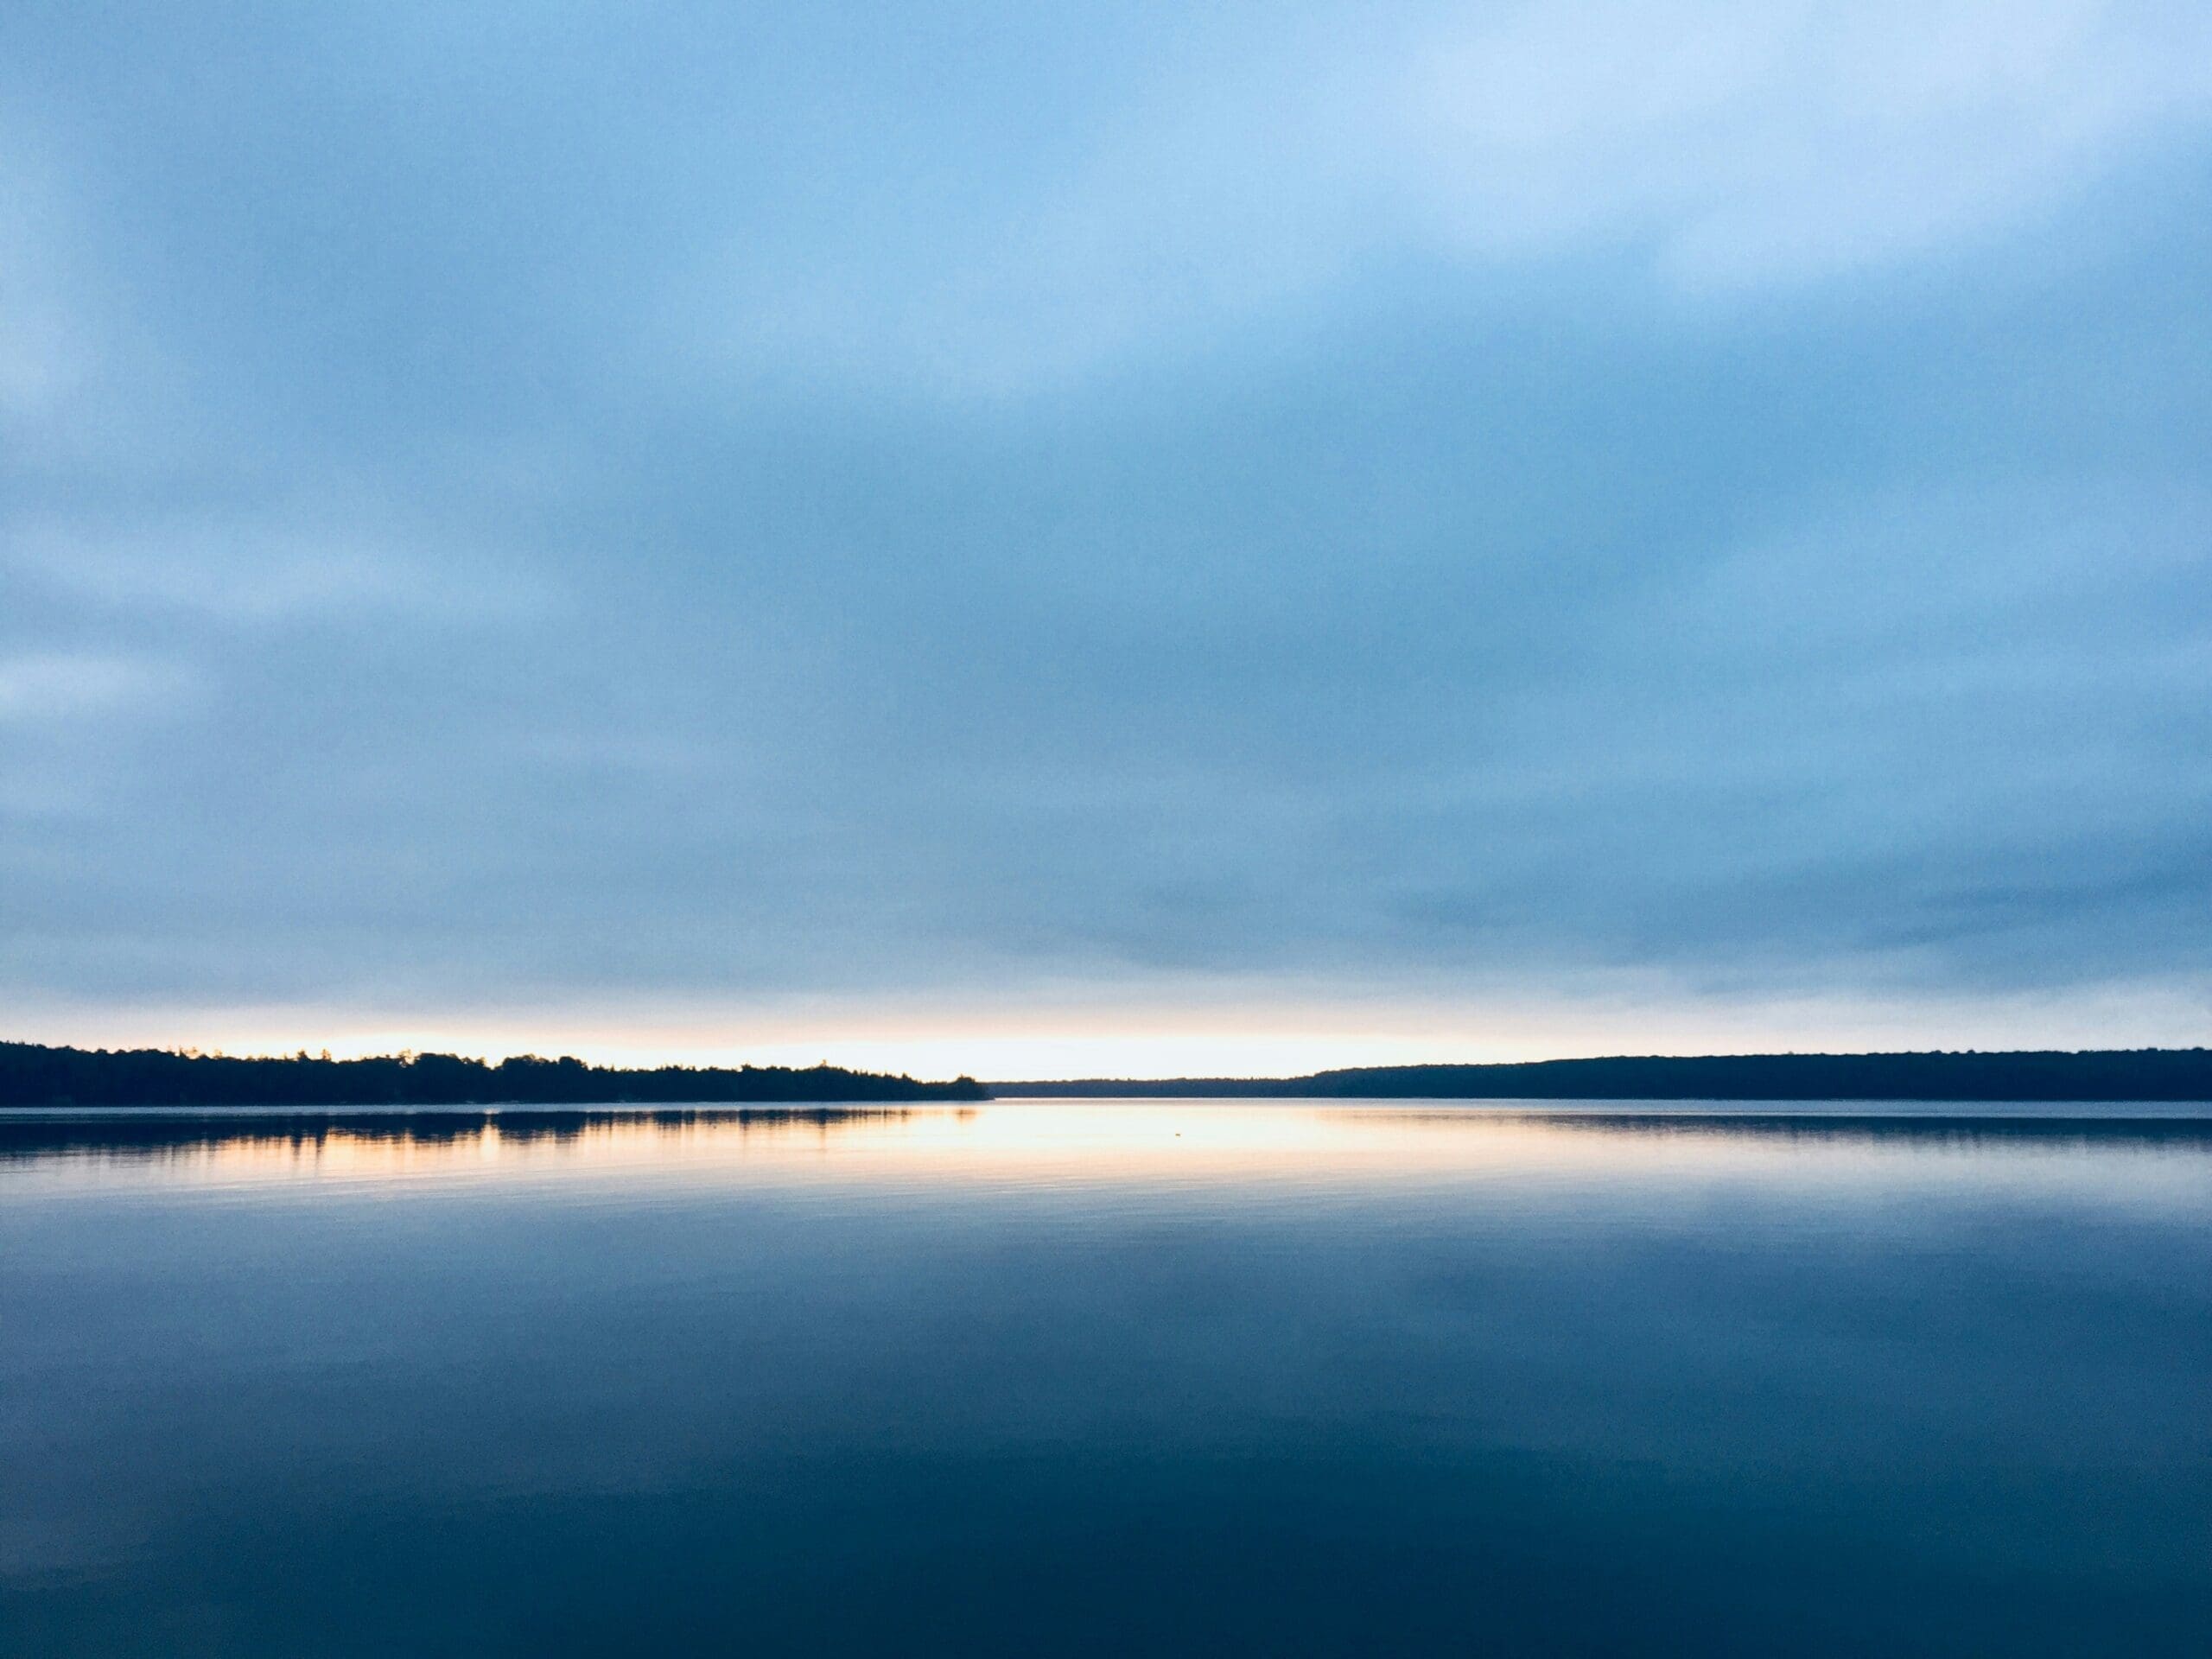
[[(1871, 1117), (1522, 1115), (1252, 1102), (925, 1108), (137, 1115), (9, 1126), (0, 1183), (679, 1181), (1369, 1190), (1747, 1179), (2068, 1188), (2212, 1206), (2212, 1128)], [(2110, 1188), (2110, 1190), (2106, 1190)]]

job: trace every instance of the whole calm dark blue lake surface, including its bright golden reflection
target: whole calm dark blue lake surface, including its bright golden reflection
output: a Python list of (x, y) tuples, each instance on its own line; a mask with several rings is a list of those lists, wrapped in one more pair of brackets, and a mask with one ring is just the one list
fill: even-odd
[(2201, 1655), (2212, 1121), (0, 1121), (0, 1652)]

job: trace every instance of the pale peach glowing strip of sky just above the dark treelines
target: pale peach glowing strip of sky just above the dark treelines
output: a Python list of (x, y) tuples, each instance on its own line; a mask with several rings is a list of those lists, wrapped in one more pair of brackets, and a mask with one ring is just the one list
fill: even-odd
[(599, 1066), (814, 1066), (925, 1079), (1077, 1082), (1298, 1077), (1352, 1066), (1495, 1064), (1601, 1055), (1871, 1053), (1927, 1048), (2201, 1046), (2188, 995), (2112, 987), (2097, 998), (2022, 995), (1949, 1004), (1790, 998), (1462, 1011), (1436, 1000), (1394, 1006), (1316, 998), (1183, 1006), (1029, 1002), (947, 1009), (914, 1002), (770, 1006), (750, 1018), (686, 1009), (617, 1018), (571, 1009), (400, 1015), (345, 1009), (166, 1009), (117, 1015), (46, 1009), (0, 1037), (82, 1048), (199, 1048), (228, 1055), (330, 1051), (575, 1055)]

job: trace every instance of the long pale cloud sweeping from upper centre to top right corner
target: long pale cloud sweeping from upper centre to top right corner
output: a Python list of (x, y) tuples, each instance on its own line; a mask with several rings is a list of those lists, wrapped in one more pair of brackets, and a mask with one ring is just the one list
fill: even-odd
[(734, 230), (681, 314), (748, 369), (1033, 394), (1405, 268), (1601, 259), (1703, 299), (1909, 272), (2212, 139), (2212, 22), (2170, 0), (1323, 9), (1208, 44), (1006, 192)]

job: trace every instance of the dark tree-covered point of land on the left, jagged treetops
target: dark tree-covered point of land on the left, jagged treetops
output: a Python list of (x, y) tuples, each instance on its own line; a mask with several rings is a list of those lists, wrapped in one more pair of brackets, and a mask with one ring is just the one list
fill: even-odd
[(49, 1048), (0, 1042), (7, 1106), (577, 1106), (721, 1102), (984, 1099), (960, 1077), (922, 1084), (841, 1066), (655, 1066), (628, 1071), (582, 1060), (518, 1055), (491, 1066), (460, 1055), (274, 1060), (168, 1048)]

